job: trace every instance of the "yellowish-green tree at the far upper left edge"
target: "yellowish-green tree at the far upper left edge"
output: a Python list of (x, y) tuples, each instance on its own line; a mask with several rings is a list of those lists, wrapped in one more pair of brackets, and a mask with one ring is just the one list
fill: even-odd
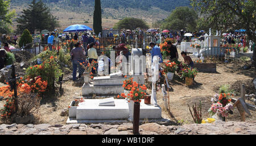
[(10, 0), (0, 0), (0, 33), (10, 33), (12, 31), (12, 19), (15, 17), (15, 10), (9, 10)]

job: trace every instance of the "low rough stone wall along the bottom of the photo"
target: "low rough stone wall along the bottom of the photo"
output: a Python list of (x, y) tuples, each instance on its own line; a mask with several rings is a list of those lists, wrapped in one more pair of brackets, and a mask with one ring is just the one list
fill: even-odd
[[(256, 122), (222, 122), (168, 126), (146, 123), (139, 127), (141, 135), (255, 135)], [(0, 135), (132, 135), (132, 123), (116, 124), (1, 124)]]

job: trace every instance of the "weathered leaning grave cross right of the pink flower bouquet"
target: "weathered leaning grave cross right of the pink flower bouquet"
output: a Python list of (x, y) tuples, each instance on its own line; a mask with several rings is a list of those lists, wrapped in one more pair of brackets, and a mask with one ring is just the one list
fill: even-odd
[(242, 85), (241, 87), (241, 96), (242, 97), (238, 98), (233, 106), (237, 106), (237, 109), (240, 113), (241, 122), (245, 122), (245, 113), (251, 115), (245, 103), (245, 85)]

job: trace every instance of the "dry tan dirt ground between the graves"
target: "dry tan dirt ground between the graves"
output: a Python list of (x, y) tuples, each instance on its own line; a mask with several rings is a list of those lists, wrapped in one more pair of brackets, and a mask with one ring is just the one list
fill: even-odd
[[(192, 124), (193, 119), (189, 113), (188, 104), (192, 106), (195, 103), (199, 104), (201, 101), (203, 118), (209, 118), (208, 109), (211, 105), (210, 98), (217, 93), (221, 85), (229, 84), (231, 88), (236, 89), (241, 87), (241, 84), (250, 84), (249, 82), (256, 77), (254, 69), (242, 70), (241, 67), (243, 65), (245, 65), (244, 62), (218, 63), (216, 73), (199, 72), (199, 75), (196, 76), (191, 87), (187, 87), (185, 81), (175, 76), (174, 80), (169, 82), (171, 87), (169, 91), (171, 114), (168, 114), (167, 110), (164, 109), (162, 91), (159, 90), (157, 92), (158, 104), (162, 108), (162, 117), (172, 119), (177, 123)], [(0, 84), (0, 87), (1, 86), (3, 86), (3, 84)], [(68, 109), (70, 102), (74, 100), (75, 97), (81, 96), (81, 87), (73, 86), (72, 81), (69, 80), (63, 83), (63, 89), (64, 91), (61, 96), (45, 97), (42, 100), (39, 112), (36, 114), (36, 117), (38, 117), (36, 123), (65, 124), (68, 117), (61, 117), (60, 113), (63, 109)], [(254, 92), (247, 90), (247, 94)], [(239, 96), (234, 96), (234, 98), (239, 98)], [(254, 103), (249, 100), (246, 100), (246, 102), (254, 105)], [(234, 114), (229, 114), (226, 121), (240, 121), (240, 114), (237, 108), (234, 108), (233, 111)], [(256, 111), (250, 110), (250, 112), (253, 116), (246, 114), (246, 121), (255, 121)]]

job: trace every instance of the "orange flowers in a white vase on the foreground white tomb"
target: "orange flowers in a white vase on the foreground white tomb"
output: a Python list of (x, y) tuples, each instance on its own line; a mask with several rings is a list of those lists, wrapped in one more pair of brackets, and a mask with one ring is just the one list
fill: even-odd
[(129, 119), (133, 121), (133, 114), (134, 114), (134, 104), (140, 105), (141, 100), (146, 97), (147, 93), (146, 85), (139, 85), (136, 81), (133, 81), (130, 93), (125, 95), (125, 93), (121, 93), (122, 97), (128, 98), (129, 104)]

